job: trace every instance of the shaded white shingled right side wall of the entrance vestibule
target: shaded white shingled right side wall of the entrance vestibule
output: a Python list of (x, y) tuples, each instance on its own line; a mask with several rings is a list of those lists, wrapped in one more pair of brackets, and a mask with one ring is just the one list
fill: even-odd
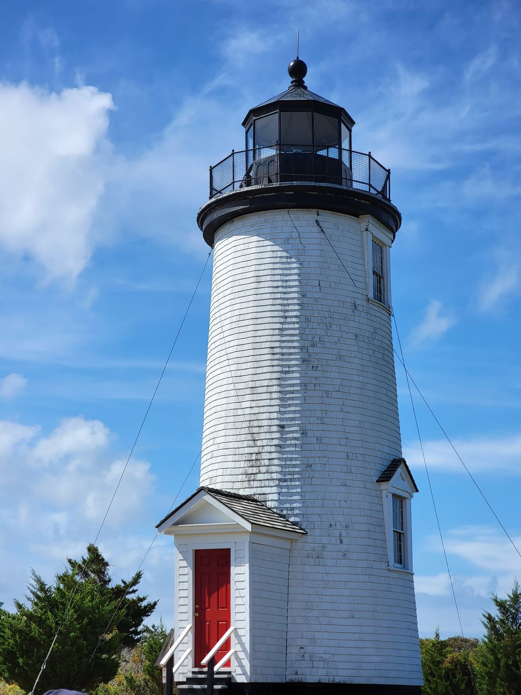
[(252, 680), (286, 680), (289, 549), (251, 543)]

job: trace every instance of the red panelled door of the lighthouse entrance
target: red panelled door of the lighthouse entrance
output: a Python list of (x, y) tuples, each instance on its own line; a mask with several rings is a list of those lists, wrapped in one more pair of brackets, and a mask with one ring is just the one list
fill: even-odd
[[(195, 666), (231, 625), (230, 549), (195, 551)], [(230, 651), (230, 639), (215, 655), (215, 663)], [(224, 664), (229, 666), (229, 662)]]

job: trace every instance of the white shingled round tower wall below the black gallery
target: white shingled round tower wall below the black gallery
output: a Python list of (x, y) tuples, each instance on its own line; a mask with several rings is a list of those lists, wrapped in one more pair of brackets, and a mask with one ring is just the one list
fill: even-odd
[[(283, 679), (419, 685), (413, 575), (389, 569), (376, 482), (402, 454), (367, 229), (392, 243), (368, 215), (312, 209), (217, 230), (201, 485), (254, 495), (308, 532), (291, 543), (281, 596)], [(253, 680), (281, 680), (269, 671)]]

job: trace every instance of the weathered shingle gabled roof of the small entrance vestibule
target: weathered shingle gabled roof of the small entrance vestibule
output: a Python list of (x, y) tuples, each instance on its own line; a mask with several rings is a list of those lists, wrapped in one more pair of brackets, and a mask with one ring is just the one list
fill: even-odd
[(240, 495), (236, 492), (217, 490), (206, 486), (199, 487), (199, 489), (182, 502), (179, 507), (176, 507), (173, 512), (170, 512), (165, 518), (161, 519), (156, 525), (156, 528), (159, 532), (162, 532), (169, 528), (169, 526), (181, 522), (181, 518), (185, 516), (185, 514), (188, 514), (190, 509), (195, 507), (201, 500), (204, 500), (204, 498), (209, 502), (213, 502), (217, 509), (224, 507), (224, 509), (229, 510), (233, 517), (239, 517), (250, 527), (261, 526), (281, 532), (296, 534), (307, 533), (307, 531), (298, 524), (290, 521), (286, 516), (283, 516), (283, 514), (275, 512), (274, 509), (270, 509), (264, 502), (261, 502), (254, 496)]

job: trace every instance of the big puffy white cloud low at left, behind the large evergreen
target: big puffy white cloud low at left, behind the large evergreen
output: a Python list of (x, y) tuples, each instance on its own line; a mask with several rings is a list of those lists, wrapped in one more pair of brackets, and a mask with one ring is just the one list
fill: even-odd
[[(0, 421), (0, 554), (10, 568), (0, 572), (0, 600), (8, 610), (10, 598), (23, 598), (31, 567), (51, 581), (94, 540), (126, 462), (114, 447), (104, 423), (82, 416), (47, 433)], [(138, 569), (165, 511), (151, 504), (153, 485), (149, 463), (131, 459), (97, 541), (117, 578)], [(172, 539), (158, 537), (142, 568), (142, 591), (162, 599), (168, 622), (172, 563)]]

